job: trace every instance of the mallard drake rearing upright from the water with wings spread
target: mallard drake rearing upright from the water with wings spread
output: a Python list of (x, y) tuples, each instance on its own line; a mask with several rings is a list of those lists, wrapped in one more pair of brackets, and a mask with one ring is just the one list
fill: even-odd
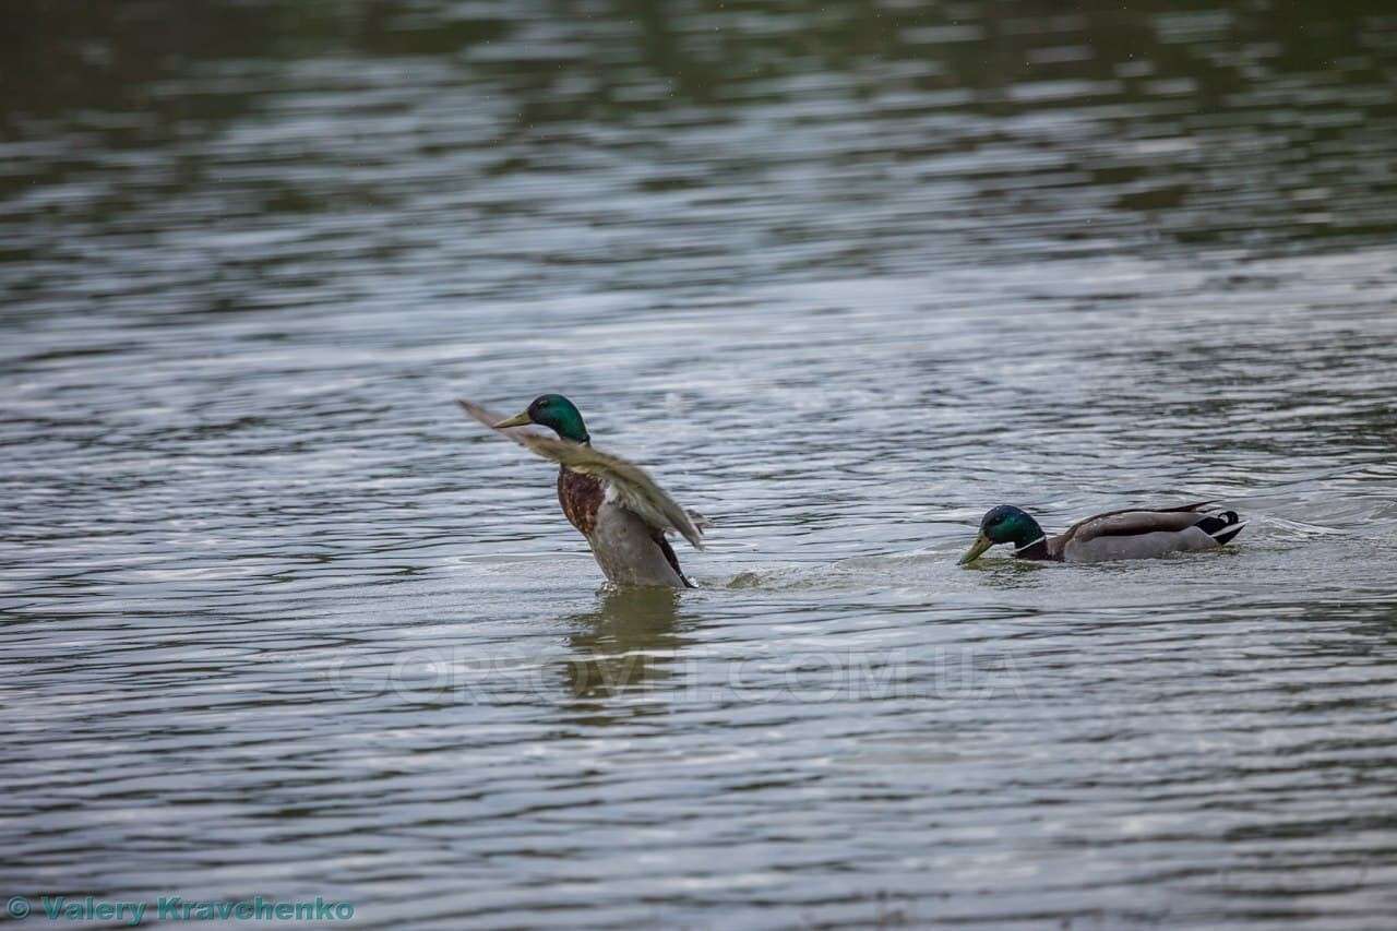
[[(569, 523), (587, 538), (609, 582), (696, 587), (679, 569), (679, 558), (665, 533), (672, 530), (703, 549), (705, 521), (676, 505), (645, 470), (592, 449), (592, 438), (576, 404), (562, 394), (542, 394), (522, 414), (507, 419), (469, 401), (460, 404), (481, 424), (559, 464), (557, 502)], [(557, 439), (514, 429), (529, 424), (546, 426)]]

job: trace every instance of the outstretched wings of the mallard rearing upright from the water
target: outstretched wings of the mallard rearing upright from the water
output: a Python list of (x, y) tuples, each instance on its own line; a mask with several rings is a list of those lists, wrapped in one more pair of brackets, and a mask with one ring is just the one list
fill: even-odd
[[(458, 403), (467, 414), (490, 429), (495, 429), (495, 425), (504, 419), (471, 401)], [(703, 549), (700, 526), (640, 466), (591, 446), (541, 436), (527, 428), (509, 428), (496, 432), (527, 446), (536, 456), (566, 466), (574, 472), (599, 478), (617, 505), (633, 512), (651, 527), (673, 528), (696, 549)]]

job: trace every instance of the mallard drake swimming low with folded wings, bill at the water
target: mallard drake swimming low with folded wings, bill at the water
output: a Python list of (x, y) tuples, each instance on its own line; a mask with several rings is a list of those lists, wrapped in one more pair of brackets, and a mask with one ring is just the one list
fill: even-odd
[(1020, 559), (1051, 562), (1148, 559), (1171, 552), (1217, 549), (1246, 524), (1235, 510), (1201, 510), (1211, 503), (1112, 510), (1078, 520), (1056, 537), (1045, 534), (1021, 507), (1000, 505), (979, 521), (979, 535), (961, 556), (961, 565), (974, 562), (996, 544), (1014, 544), (1014, 555)]

